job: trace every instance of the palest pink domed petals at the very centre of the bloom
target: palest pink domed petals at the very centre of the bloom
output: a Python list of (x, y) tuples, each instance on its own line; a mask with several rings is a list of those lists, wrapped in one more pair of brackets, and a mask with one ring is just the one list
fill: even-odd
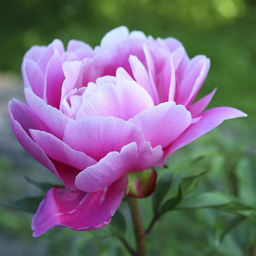
[(99, 87), (90, 98), (83, 101), (76, 119), (84, 116), (118, 117), (128, 120), (142, 110), (153, 107), (150, 95), (136, 82), (122, 81)]

